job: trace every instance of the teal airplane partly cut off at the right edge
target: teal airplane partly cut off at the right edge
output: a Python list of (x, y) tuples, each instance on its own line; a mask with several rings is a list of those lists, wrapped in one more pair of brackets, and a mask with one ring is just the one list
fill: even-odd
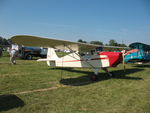
[(135, 42), (131, 43), (129, 47), (131, 50), (125, 54), (125, 63), (142, 64), (150, 61), (150, 45)]

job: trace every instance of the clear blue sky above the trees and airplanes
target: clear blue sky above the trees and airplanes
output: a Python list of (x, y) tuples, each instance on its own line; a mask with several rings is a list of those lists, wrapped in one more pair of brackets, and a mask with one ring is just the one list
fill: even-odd
[(150, 44), (150, 0), (0, 0), (0, 36)]

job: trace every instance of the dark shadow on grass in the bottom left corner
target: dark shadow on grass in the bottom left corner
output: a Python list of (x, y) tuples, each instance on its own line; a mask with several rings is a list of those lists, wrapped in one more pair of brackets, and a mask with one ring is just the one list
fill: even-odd
[(13, 94), (0, 95), (0, 112), (7, 111), (17, 107), (23, 107), (24, 102)]

